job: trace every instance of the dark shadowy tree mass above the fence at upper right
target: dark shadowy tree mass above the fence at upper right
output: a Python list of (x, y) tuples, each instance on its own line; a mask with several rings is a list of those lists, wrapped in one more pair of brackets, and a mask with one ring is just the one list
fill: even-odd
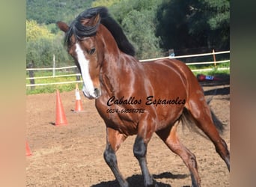
[(156, 34), (165, 49), (229, 49), (229, 11), (227, 0), (165, 0)]

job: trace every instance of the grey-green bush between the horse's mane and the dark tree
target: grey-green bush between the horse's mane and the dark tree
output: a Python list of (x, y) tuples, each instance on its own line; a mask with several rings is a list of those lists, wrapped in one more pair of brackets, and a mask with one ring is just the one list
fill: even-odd
[(139, 59), (156, 58), (161, 54), (159, 37), (155, 35), (156, 10), (160, 2), (159, 0), (123, 0), (109, 7), (113, 17), (135, 46)]

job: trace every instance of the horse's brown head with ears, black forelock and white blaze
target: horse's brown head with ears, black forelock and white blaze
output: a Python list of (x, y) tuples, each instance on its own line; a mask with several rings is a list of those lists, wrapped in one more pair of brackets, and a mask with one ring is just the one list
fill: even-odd
[(103, 61), (103, 43), (97, 40), (100, 15), (80, 14), (70, 25), (57, 22), (58, 28), (66, 34), (67, 52), (73, 57), (84, 82), (82, 91), (89, 99), (97, 99), (100, 90), (100, 65)]

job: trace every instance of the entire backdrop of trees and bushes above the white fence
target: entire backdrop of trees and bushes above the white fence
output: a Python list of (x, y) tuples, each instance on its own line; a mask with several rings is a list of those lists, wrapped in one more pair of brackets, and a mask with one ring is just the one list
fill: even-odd
[[(163, 51), (196, 49), (194, 54), (229, 49), (228, 0), (26, 0), (27, 64), (48, 67), (72, 63), (64, 49), (63, 33), (55, 22), (70, 23), (91, 6), (107, 6), (135, 46), (139, 59), (162, 56)], [(206, 51), (203, 51), (202, 49)], [(198, 50), (200, 49), (200, 50)]]

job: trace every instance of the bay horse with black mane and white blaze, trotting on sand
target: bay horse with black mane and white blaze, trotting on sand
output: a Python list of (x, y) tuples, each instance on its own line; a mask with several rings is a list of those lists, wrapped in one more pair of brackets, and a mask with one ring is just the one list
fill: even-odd
[(106, 123), (103, 156), (121, 187), (129, 184), (118, 169), (116, 152), (129, 135), (137, 135), (133, 153), (144, 186), (157, 186), (146, 159), (153, 132), (189, 168), (192, 186), (201, 186), (195, 155), (177, 136), (178, 124), (189, 120), (210, 138), (230, 170), (228, 146), (213, 122), (204, 91), (186, 64), (174, 59), (139, 62), (135, 49), (106, 7), (89, 8), (70, 25), (57, 25), (64, 31), (67, 52), (82, 74), (82, 91), (88, 99), (95, 99)]

